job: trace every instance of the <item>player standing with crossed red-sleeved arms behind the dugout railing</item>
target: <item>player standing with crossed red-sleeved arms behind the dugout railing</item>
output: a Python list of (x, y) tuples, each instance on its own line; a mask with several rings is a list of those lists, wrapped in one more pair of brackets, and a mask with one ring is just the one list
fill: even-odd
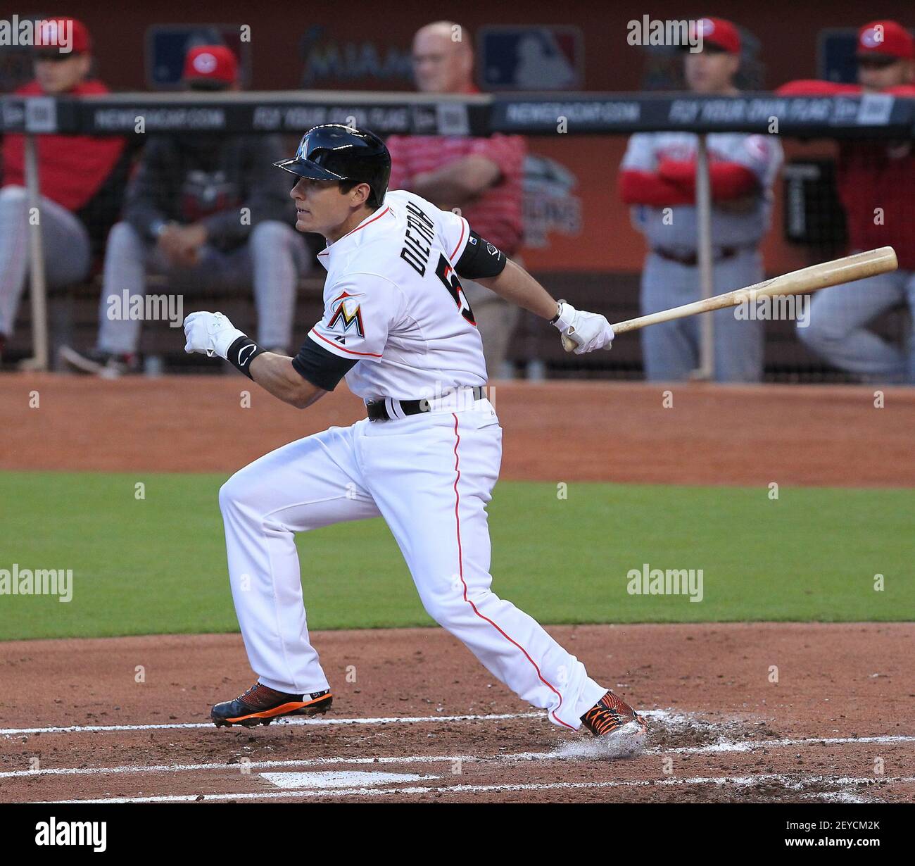
[[(702, 50), (684, 47), (689, 89), (704, 95), (737, 95), (740, 67), (737, 27), (723, 18), (700, 18)], [(693, 42), (693, 39), (690, 39)], [(772, 184), (782, 161), (775, 135), (706, 135), (712, 194), (713, 295), (764, 278), (759, 244), (770, 228)], [(658, 312), (701, 298), (698, 220), (695, 207), (693, 133), (632, 135), (619, 172), (622, 200), (649, 247), (641, 275), (641, 313)], [(717, 382), (759, 382), (763, 371), (763, 326), (737, 319), (733, 309), (714, 317)], [(641, 333), (645, 376), (652, 381), (688, 379), (699, 365), (698, 317), (654, 325)]]

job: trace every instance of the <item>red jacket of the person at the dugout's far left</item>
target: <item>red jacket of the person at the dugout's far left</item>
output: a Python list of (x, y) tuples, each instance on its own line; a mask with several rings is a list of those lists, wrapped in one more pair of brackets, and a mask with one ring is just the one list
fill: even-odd
[[(101, 81), (84, 81), (68, 95), (107, 93)], [(16, 91), (18, 96), (46, 95), (38, 81)], [(126, 141), (117, 135), (36, 135), (41, 194), (68, 211), (79, 211), (101, 189), (117, 165)], [(4, 135), (3, 185), (26, 185), (24, 136)]]

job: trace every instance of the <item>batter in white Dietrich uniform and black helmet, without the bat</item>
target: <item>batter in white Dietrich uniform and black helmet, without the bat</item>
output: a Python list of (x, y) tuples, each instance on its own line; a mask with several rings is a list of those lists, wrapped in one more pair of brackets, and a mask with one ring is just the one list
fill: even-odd
[(482, 344), (462, 280), (478, 279), (550, 320), (579, 354), (609, 347), (607, 319), (555, 301), (465, 218), (387, 191), (391, 158), (370, 132), (317, 126), (295, 158), (277, 165), (296, 176), (296, 228), (327, 240), (319, 255), (328, 270), (324, 316), (291, 358), (265, 352), (221, 313), (196, 312), (185, 321), (185, 350), (225, 358), (302, 408), (345, 376), (367, 417), (275, 450), (221, 488), (232, 594), (257, 681), (216, 704), (211, 720), (253, 726), (329, 709), (294, 536), (383, 516), (426, 612), (494, 676), (555, 725), (585, 727), (613, 753), (640, 750), (645, 725), (629, 704), (490, 590), (485, 505), (502, 428), (484, 393)]

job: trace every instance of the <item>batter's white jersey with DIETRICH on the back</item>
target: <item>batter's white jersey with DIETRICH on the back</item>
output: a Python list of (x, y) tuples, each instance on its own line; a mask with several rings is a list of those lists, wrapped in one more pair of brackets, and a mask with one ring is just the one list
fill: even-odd
[(403, 189), (318, 254), (324, 316), (308, 332), (357, 361), (346, 383), (363, 399), (419, 399), (486, 384), (483, 343), (454, 267), (467, 220)]

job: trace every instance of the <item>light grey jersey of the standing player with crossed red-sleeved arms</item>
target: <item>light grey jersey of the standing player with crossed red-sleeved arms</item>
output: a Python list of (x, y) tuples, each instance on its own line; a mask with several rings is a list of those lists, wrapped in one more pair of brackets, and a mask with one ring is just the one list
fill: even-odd
[[(621, 168), (657, 171), (662, 159), (695, 159), (694, 133), (638, 133), (632, 135)], [(781, 144), (775, 135), (745, 133), (711, 133), (706, 136), (710, 161), (735, 162), (756, 175), (759, 193), (751, 207), (737, 210), (712, 205), (712, 237), (720, 246), (751, 246), (759, 243), (769, 230), (772, 209), (771, 187), (783, 158)], [(696, 214), (691, 204), (674, 205), (673, 220), (666, 219), (660, 207), (636, 205), (634, 223), (651, 246), (661, 246), (676, 253), (692, 253), (696, 248)]]

